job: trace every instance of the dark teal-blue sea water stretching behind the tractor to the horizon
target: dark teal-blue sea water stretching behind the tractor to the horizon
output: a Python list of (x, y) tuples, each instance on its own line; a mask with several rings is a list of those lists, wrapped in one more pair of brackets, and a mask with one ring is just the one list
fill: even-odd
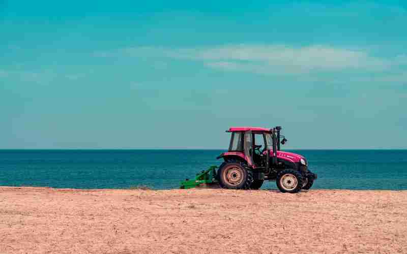
[[(407, 150), (290, 150), (318, 174), (312, 188), (407, 189)], [(223, 150), (0, 150), (0, 185), (179, 188)], [(276, 189), (275, 182), (262, 188)]]

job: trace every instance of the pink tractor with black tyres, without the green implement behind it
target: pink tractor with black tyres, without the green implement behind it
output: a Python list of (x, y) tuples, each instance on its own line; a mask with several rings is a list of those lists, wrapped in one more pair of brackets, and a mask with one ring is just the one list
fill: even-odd
[[(233, 127), (229, 149), (217, 158), (224, 162), (215, 178), (223, 188), (258, 189), (265, 180), (276, 181), (281, 192), (309, 189), (317, 175), (309, 171), (304, 156), (280, 150), (287, 140), (281, 127)], [(281, 139), (281, 140), (280, 140)]]

